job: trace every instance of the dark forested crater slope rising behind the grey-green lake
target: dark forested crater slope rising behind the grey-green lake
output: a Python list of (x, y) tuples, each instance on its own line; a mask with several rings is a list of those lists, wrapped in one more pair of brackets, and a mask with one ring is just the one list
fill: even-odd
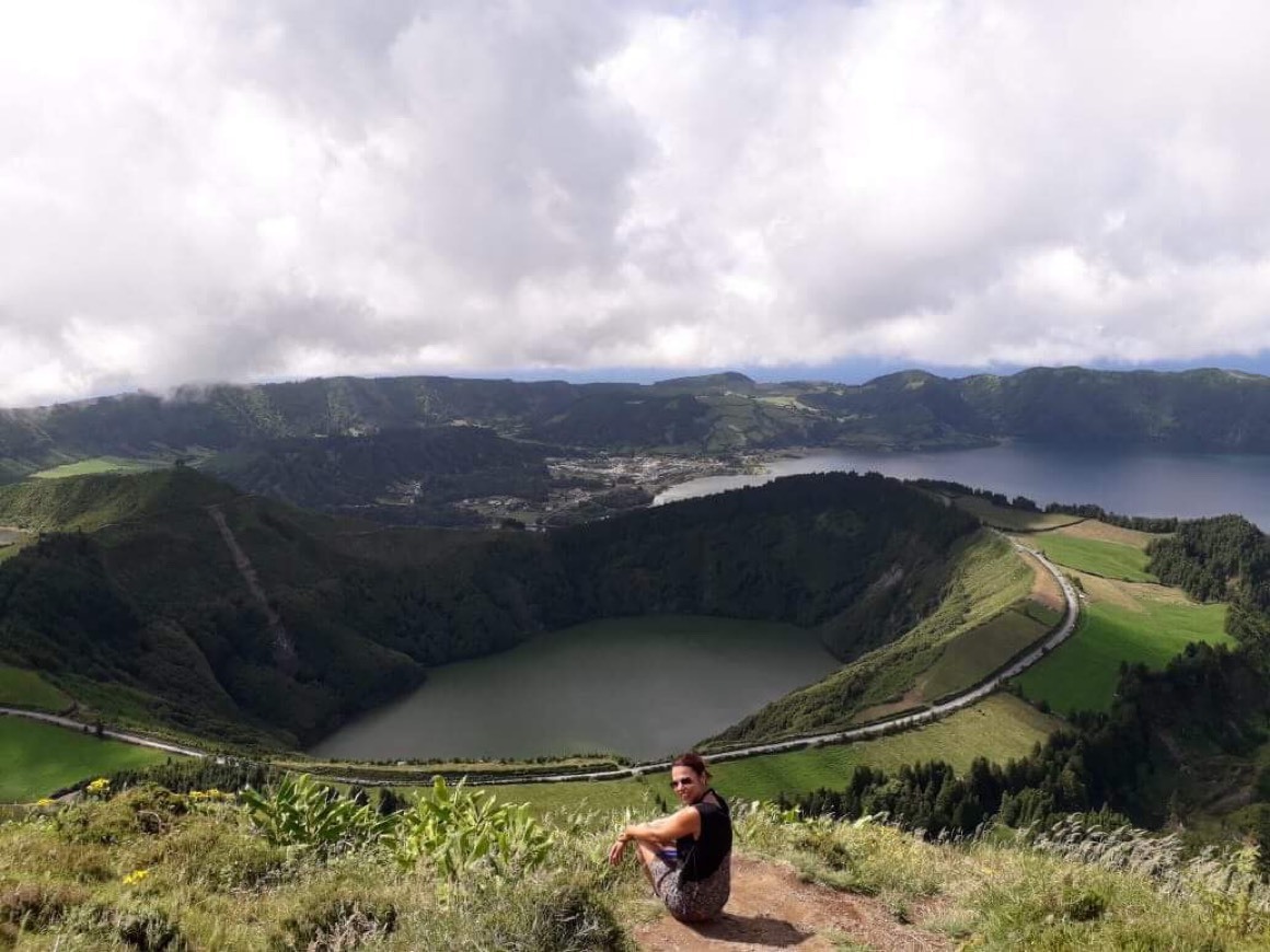
[[(597, 617), (792, 621), (852, 656), (933, 604), (974, 528), (895, 481), (838, 473), (550, 534), (380, 529), (182, 467), (5, 487), (9, 522), (89, 531), (47, 533), (0, 565), (0, 661), (107, 711), (282, 743), (334, 729), (428, 665)], [(883, 576), (895, 580), (885, 605), (861, 613)]]

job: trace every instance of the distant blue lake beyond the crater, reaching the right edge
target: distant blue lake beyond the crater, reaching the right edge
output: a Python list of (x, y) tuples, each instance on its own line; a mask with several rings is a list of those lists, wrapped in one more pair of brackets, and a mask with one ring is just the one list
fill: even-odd
[(672, 486), (657, 503), (758, 485), (777, 476), (874, 470), (952, 480), (1045, 503), (1095, 503), (1128, 515), (1240, 513), (1270, 528), (1270, 456), (1077, 451), (1016, 443), (937, 453), (814, 452), (777, 459), (766, 476), (709, 476)]

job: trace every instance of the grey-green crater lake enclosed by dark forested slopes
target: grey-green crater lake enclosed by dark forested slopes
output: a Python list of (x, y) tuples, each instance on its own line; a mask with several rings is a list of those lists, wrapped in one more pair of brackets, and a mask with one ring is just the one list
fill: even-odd
[(790, 625), (648, 616), (541, 635), (432, 670), (410, 697), (310, 753), (384, 760), (678, 753), (837, 661)]

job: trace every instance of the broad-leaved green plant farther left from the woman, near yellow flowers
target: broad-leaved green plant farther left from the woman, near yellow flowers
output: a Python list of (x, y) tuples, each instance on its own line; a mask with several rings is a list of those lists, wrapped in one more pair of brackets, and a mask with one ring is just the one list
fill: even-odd
[(309, 774), (287, 774), (267, 793), (248, 787), (240, 796), (251, 825), (273, 845), (331, 852), (376, 843), (396, 823), (396, 817), (380, 816)]

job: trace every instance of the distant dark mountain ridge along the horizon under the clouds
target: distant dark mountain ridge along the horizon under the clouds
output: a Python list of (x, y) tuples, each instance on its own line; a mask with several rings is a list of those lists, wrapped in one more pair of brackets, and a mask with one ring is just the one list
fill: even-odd
[(922, 371), (862, 385), (757, 383), (740, 373), (653, 385), (334, 377), (187, 387), (0, 411), (0, 476), (93, 456), (224, 452), (455, 423), (608, 452), (936, 448), (1024, 439), (1270, 452), (1270, 378), (1033, 368), (959, 380)]

